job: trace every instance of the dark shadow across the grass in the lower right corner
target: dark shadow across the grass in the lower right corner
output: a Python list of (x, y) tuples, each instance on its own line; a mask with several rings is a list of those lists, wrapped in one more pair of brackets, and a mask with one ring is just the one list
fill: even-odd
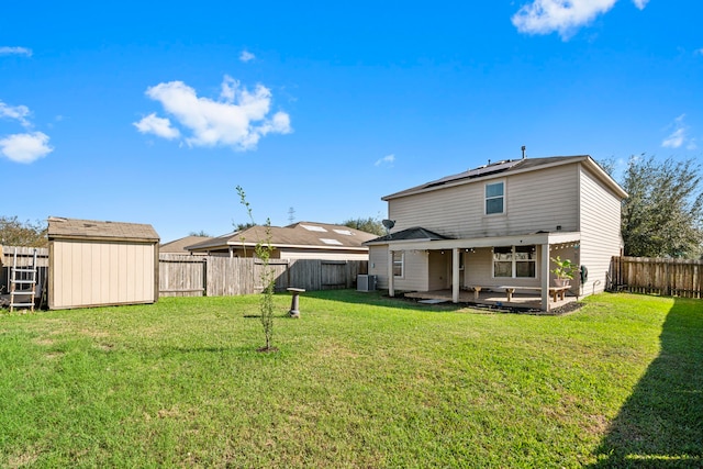
[(590, 468), (703, 467), (703, 301), (677, 300), (660, 340)]

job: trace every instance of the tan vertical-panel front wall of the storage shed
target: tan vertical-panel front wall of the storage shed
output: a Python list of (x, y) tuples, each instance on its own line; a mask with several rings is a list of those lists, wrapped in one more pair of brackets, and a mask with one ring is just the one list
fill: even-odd
[(52, 309), (154, 302), (154, 244), (55, 241), (52, 250)]

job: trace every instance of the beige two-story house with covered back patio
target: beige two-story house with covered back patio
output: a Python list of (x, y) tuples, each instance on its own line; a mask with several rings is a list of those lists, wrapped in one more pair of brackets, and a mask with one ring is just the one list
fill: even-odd
[(511, 286), (549, 310), (556, 256), (570, 259), (571, 294), (603, 291), (622, 249), (627, 193), (590, 157), (499, 161), (386, 196), (388, 235), (371, 239), (369, 273), (397, 291)]

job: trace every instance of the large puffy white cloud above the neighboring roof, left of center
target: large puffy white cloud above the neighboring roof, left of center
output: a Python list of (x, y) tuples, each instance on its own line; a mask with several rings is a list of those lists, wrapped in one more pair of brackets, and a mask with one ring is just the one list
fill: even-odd
[(183, 127), (183, 133), (188, 131), (186, 143), (190, 146), (246, 150), (255, 148), (269, 133), (292, 132), (287, 113), (277, 112), (268, 118), (271, 105), (268, 88), (257, 85), (250, 92), (228, 76), (223, 79), (220, 101), (199, 98), (182, 81), (156, 85), (146, 90), (146, 96), (160, 102), (166, 113)]

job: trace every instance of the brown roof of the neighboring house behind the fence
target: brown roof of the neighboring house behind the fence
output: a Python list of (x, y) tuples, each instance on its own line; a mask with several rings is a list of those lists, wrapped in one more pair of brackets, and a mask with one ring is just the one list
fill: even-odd
[[(203, 243), (188, 246), (189, 250), (215, 250), (236, 246), (253, 247), (267, 238), (266, 226), (252, 226), (241, 232), (228, 233)], [(274, 247), (314, 249), (367, 250), (362, 243), (376, 237), (375, 234), (315, 222), (299, 222), (288, 226), (270, 226), (270, 244)]]

